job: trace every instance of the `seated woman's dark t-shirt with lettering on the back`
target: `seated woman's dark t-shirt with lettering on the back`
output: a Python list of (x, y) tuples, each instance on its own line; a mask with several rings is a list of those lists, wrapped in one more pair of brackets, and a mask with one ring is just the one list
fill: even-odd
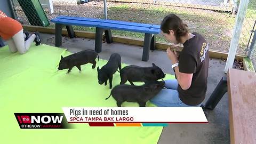
[(183, 44), (179, 58), (179, 71), (193, 74), (191, 86), (182, 90), (178, 85), (179, 98), (189, 106), (196, 106), (203, 102), (207, 89), (209, 66), (209, 47), (204, 37), (198, 33)]

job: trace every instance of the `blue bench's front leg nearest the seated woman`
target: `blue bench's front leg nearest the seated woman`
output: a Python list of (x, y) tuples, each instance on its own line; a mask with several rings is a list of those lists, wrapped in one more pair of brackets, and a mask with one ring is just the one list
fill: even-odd
[(142, 61), (148, 61), (152, 34), (145, 34)]

